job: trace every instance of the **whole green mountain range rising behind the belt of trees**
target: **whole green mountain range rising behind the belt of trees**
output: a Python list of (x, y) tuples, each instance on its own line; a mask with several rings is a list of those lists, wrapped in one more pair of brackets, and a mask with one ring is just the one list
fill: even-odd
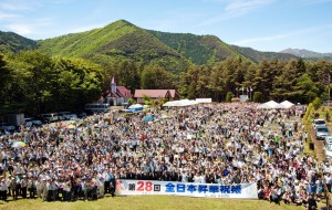
[[(240, 56), (255, 63), (259, 63), (262, 60), (299, 57), (291, 51), (262, 52), (251, 48), (227, 44), (216, 35), (147, 30), (136, 27), (126, 20), (117, 20), (103, 28), (90, 31), (69, 33), (38, 41), (19, 34), (15, 34), (18, 41), (6, 40), (2, 36), (6, 38), (4, 34), (7, 33), (15, 34), (0, 31), (0, 52), (38, 49), (51, 55), (84, 57), (96, 63), (107, 63), (114, 60), (153, 62), (166, 66), (173, 72), (181, 72), (191, 64), (201, 65), (220, 62), (228, 56)], [(332, 53), (314, 54), (313, 52), (311, 55), (317, 55), (317, 59), (332, 57)]]

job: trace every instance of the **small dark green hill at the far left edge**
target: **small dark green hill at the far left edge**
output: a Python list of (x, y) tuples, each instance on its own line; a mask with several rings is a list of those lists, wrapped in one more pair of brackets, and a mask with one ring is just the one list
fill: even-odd
[(19, 35), (13, 32), (0, 31), (0, 52), (19, 52), (21, 50), (33, 50), (37, 48), (37, 42)]

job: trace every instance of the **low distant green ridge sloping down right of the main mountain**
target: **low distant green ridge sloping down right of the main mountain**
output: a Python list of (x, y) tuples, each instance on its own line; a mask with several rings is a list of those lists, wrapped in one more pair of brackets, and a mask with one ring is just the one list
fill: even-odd
[(288, 53), (277, 53), (277, 52), (261, 52), (253, 50), (251, 48), (241, 48), (237, 45), (231, 45), (231, 48), (242, 54), (243, 56), (250, 59), (251, 61), (259, 63), (262, 60), (291, 60), (295, 59), (295, 55), (288, 54)]

